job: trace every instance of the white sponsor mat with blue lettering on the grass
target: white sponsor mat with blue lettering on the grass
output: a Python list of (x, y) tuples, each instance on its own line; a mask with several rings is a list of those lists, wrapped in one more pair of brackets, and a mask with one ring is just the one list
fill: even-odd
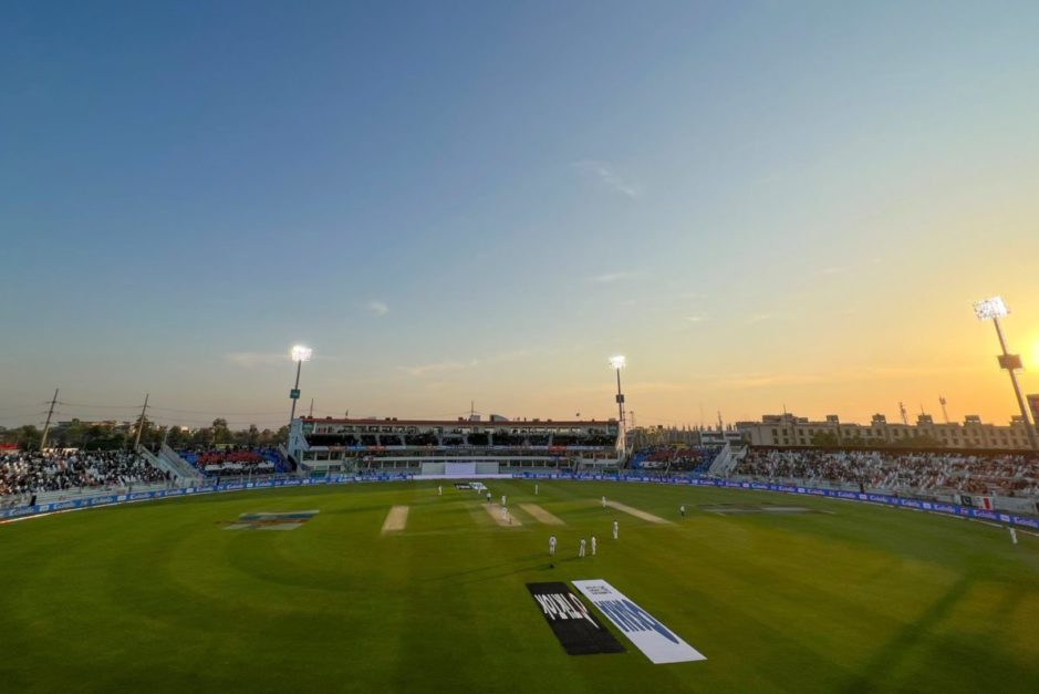
[(654, 663), (707, 660), (703, 653), (606, 581), (595, 579), (574, 581), (573, 584)]

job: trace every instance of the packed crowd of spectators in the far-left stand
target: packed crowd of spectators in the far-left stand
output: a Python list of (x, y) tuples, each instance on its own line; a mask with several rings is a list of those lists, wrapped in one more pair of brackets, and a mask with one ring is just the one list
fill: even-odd
[(0, 456), (0, 497), (168, 481), (168, 473), (125, 450), (56, 450)]

